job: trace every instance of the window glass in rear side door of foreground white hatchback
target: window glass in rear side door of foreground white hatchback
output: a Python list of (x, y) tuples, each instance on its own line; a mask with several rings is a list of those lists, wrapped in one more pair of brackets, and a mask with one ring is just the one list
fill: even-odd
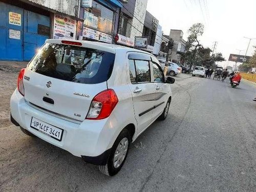
[(150, 62), (147, 60), (129, 60), (132, 83), (151, 82)]

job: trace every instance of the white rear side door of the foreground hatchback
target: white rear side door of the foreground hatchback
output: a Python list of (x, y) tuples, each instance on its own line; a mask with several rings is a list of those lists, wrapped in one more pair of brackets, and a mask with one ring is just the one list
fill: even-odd
[(152, 122), (154, 109), (155, 83), (151, 80), (151, 57), (143, 53), (129, 55), (130, 91), (133, 98), (135, 118), (138, 122), (138, 134)]

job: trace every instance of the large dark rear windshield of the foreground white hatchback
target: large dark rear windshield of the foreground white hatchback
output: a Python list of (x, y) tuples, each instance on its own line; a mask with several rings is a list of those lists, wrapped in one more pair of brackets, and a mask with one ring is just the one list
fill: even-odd
[(115, 54), (70, 45), (45, 44), (30, 61), (36, 73), (66, 81), (95, 84), (109, 79)]

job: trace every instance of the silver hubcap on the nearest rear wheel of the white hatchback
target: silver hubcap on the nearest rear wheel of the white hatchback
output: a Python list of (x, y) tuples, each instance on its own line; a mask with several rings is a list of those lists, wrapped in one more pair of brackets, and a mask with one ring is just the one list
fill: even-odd
[(114, 161), (113, 161), (115, 168), (118, 168), (122, 164), (127, 153), (128, 145), (129, 145), (129, 141), (126, 137), (123, 138), (117, 145), (116, 152), (114, 154)]

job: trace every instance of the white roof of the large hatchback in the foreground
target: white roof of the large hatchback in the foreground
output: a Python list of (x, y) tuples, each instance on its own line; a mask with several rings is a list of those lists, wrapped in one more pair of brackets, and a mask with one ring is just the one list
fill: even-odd
[[(62, 44), (62, 42), (61, 42), (62, 40), (72, 41), (72, 42), (81, 42), (81, 44), (82, 44), (81, 47), (87, 47), (87, 48), (91, 48), (91, 49), (99, 49), (99, 50), (107, 51), (107, 52), (111, 52), (111, 53), (116, 53), (116, 50), (119, 49), (119, 50), (125, 50), (127, 52), (135, 51), (135, 52), (145, 53), (145, 54), (154, 56), (151, 53), (148, 53), (146, 51), (142, 51), (139, 49), (129, 48), (129, 47), (115, 45), (115, 44), (108, 44), (106, 42), (98, 42), (98, 41), (74, 40), (74, 39), (47, 39), (46, 43)], [(80, 46), (78, 46), (78, 47), (80, 47)]]

